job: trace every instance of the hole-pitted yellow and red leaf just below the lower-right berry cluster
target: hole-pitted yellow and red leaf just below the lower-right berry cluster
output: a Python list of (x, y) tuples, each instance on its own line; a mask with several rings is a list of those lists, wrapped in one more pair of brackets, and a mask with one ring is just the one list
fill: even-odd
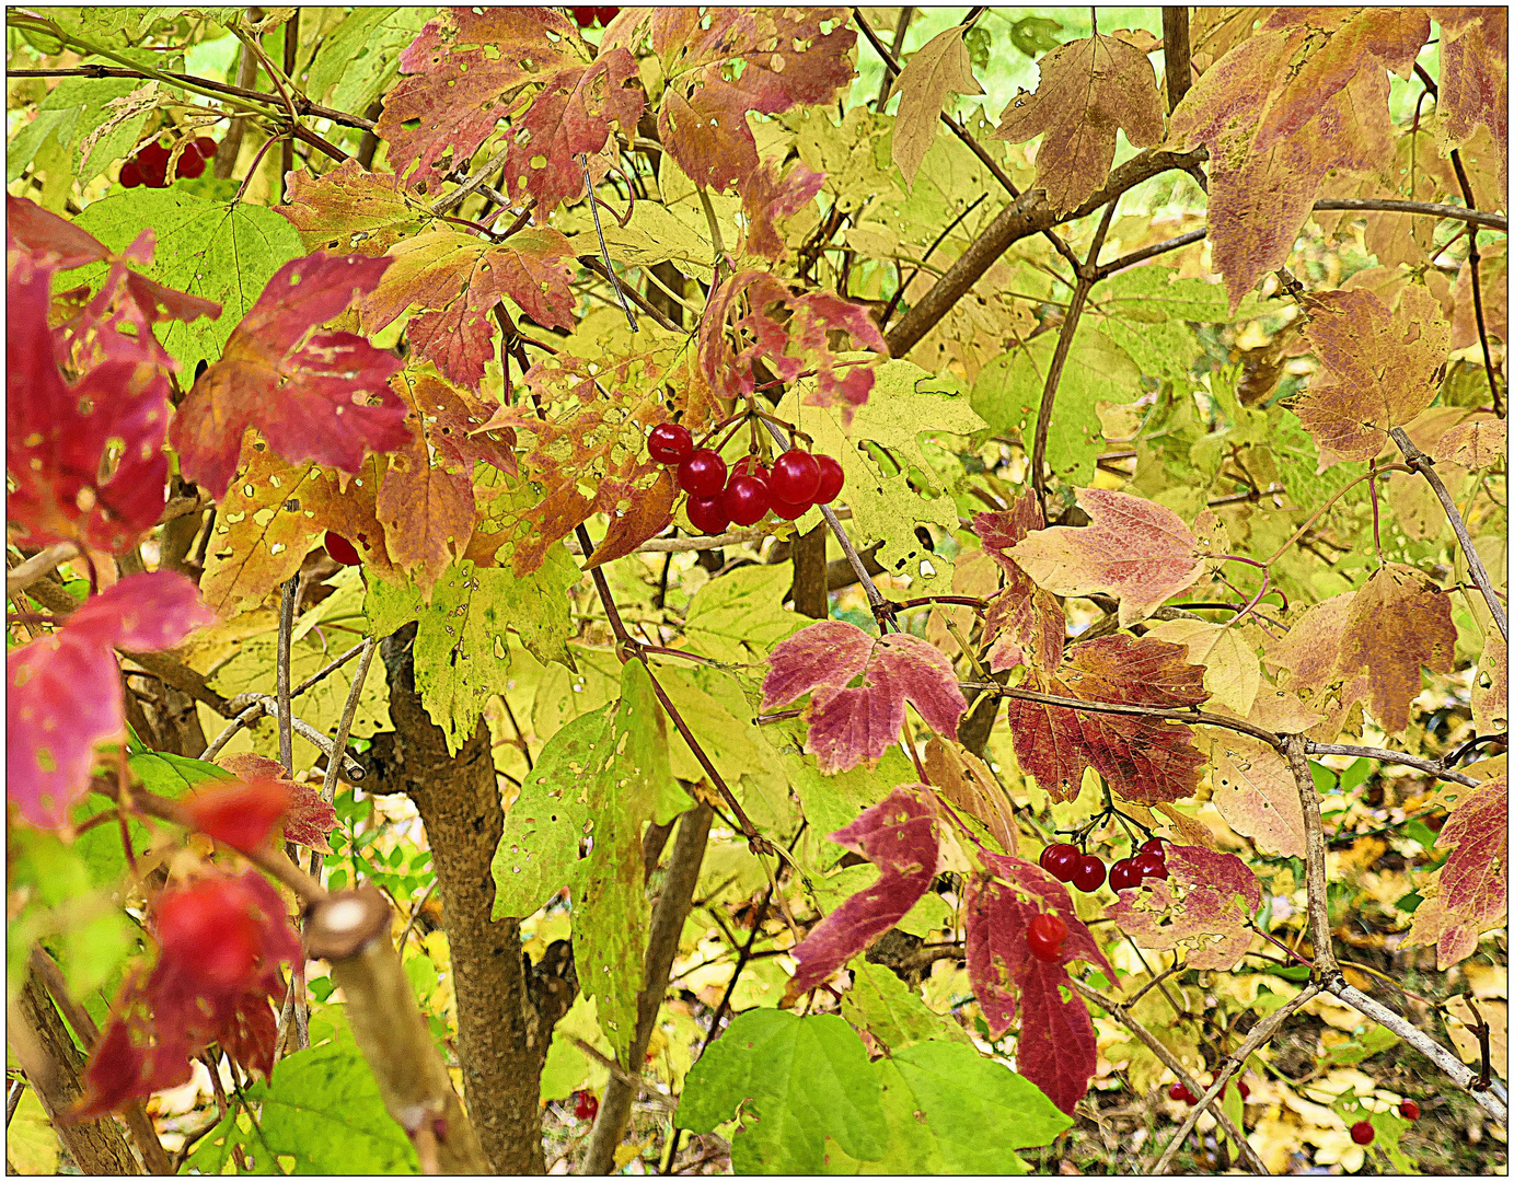
[(1122, 890), (1105, 914), (1142, 947), (1185, 949), (1192, 969), (1234, 969), (1261, 907), (1257, 876), (1234, 854), (1202, 846), (1169, 846), (1167, 875)]

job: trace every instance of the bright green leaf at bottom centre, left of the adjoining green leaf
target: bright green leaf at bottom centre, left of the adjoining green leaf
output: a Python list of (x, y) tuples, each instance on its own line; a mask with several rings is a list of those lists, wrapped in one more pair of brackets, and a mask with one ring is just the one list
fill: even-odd
[(710, 1132), (739, 1114), (736, 1173), (813, 1174), (825, 1165), (827, 1137), (854, 1158), (883, 1156), (881, 1097), (868, 1052), (843, 1019), (751, 1009), (689, 1072), (674, 1123)]

